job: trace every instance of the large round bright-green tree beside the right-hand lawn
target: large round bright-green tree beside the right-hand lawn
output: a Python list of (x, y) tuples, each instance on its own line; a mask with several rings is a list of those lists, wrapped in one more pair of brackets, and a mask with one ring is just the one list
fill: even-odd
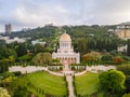
[(126, 75), (121, 71), (108, 70), (100, 73), (100, 88), (106, 93), (115, 94), (125, 91)]

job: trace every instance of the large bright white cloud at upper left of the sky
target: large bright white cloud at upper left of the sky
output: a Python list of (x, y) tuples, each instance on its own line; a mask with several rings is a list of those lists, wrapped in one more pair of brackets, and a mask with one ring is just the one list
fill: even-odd
[(51, 22), (58, 23), (62, 19), (66, 19), (68, 11), (61, 4), (50, 6), (46, 3), (21, 5), (12, 12), (17, 22), (23, 25), (40, 26)]

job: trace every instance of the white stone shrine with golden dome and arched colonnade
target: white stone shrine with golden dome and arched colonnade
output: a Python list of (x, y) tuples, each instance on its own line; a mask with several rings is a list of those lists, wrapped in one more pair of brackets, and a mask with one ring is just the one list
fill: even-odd
[(52, 58), (57, 58), (63, 65), (80, 64), (80, 54), (74, 52), (69, 34), (63, 33), (60, 38), (57, 52), (52, 53)]

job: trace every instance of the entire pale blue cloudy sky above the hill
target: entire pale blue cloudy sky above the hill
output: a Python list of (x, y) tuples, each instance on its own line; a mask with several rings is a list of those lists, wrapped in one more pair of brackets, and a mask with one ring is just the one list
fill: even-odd
[(62, 25), (115, 25), (130, 22), (130, 0), (0, 0), (0, 32)]

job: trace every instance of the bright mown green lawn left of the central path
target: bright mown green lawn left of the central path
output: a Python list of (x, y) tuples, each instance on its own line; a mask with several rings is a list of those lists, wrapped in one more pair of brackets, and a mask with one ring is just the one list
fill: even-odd
[(66, 95), (66, 83), (63, 77), (52, 75), (48, 72), (40, 71), (27, 75), (30, 83), (43, 88), (44, 93), (52, 95)]

